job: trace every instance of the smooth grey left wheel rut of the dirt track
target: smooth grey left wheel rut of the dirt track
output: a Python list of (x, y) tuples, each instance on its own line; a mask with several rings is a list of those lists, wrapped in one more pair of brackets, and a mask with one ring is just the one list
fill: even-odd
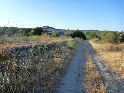
[[(84, 51), (84, 41), (82, 41), (75, 55), (73, 56), (68, 71), (62, 79), (59, 93), (82, 93), (82, 60)], [(84, 68), (85, 69), (85, 68)]]

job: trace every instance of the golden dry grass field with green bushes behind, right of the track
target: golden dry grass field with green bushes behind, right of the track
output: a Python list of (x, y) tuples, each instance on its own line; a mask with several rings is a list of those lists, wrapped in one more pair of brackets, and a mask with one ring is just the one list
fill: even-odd
[(105, 65), (124, 78), (124, 33), (104, 32), (100, 39), (92, 38), (91, 44), (101, 54)]

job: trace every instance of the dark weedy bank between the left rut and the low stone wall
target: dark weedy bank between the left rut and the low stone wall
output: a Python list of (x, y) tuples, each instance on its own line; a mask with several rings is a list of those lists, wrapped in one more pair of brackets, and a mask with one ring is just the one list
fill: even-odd
[[(28, 55), (18, 54), (0, 61), (3, 71), (0, 72), (0, 93), (34, 93), (37, 90), (54, 93), (79, 43), (75, 40), (72, 49), (67, 42), (54, 43), (54, 46), (39, 44), (28, 49)], [(23, 50), (11, 51), (11, 55), (15, 52)]]

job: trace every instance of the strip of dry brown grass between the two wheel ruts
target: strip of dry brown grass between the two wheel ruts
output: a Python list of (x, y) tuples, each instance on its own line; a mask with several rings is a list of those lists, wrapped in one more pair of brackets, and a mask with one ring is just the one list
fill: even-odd
[(87, 63), (86, 63), (86, 77), (87, 82), (85, 88), (88, 93), (106, 93), (106, 87), (101, 79), (99, 72), (97, 71), (96, 66), (93, 64), (91, 55), (89, 51), (86, 52)]

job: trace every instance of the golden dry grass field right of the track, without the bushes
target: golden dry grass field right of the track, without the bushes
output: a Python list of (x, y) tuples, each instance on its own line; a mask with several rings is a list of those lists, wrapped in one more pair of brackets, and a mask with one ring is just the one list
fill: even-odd
[(90, 43), (101, 54), (105, 65), (124, 78), (124, 44)]

